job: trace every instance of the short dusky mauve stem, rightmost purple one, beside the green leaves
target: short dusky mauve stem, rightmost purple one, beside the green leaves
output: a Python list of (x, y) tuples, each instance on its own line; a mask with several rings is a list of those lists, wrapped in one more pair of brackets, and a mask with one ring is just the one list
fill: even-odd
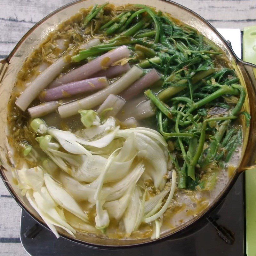
[(161, 76), (156, 72), (156, 69), (153, 68), (145, 76), (141, 77), (124, 92), (122, 92), (120, 96), (124, 98), (124, 100), (130, 100), (143, 92), (144, 89), (156, 83), (158, 80), (160, 80), (160, 78)]

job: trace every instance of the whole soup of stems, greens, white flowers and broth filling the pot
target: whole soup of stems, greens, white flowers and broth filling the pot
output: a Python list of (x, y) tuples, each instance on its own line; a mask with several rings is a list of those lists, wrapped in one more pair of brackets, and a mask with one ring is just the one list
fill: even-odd
[(168, 13), (82, 9), (17, 77), (14, 180), (57, 237), (159, 238), (233, 175), (245, 97), (225, 54)]

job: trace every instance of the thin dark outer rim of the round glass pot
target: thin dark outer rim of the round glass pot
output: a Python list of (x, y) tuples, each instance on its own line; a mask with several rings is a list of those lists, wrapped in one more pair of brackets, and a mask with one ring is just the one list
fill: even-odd
[[(1, 60), (1, 63), (8, 63), (11, 60), (12, 56), (15, 54), (16, 50), (19, 48), (20, 44), (23, 43), (23, 41), (27, 38), (27, 36), (34, 31), (40, 24), (42, 24), (45, 20), (48, 20), (50, 17), (52, 17), (53, 15), (55, 15), (56, 13), (68, 8), (69, 6), (72, 6), (74, 4), (80, 3), (80, 2), (84, 2), (84, 1), (88, 1), (88, 0), (76, 0), (73, 1), (69, 4), (63, 5), (60, 8), (56, 9), (55, 11), (51, 12), (50, 14), (48, 14), (47, 16), (45, 16), (42, 20), (38, 21), (32, 28), (30, 28), (28, 30), (28, 32), (20, 39), (20, 41), (16, 44), (16, 46), (13, 48), (13, 50), (11, 51), (11, 53), (4, 59)], [(200, 16), (199, 14), (197, 14), (196, 12), (192, 11), (191, 9), (173, 2), (172, 0), (161, 0), (163, 2), (167, 2), (173, 5), (176, 5), (177, 7), (184, 9), (185, 11), (188, 11), (190, 14), (195, 15), (199, 20), (201, 20), (205, 25), (208, 25), (211, 30), (222, 40), (222, 43), (225, 45), (226, 48), (228, 48), (228, 50), (231, 52), (231, 56), (234, 58), (234, 60), (236, 61), (236, 65), (241, 64), (242, 66), (245, 65), (250, 65), (253, 68), (256, 68), (256, 65), (253, 65), (251, 63), (245, 62), (241, 59), (239, 59), (235, 52), (233, 51), (232, 47), (228, 44), (228, 42), (224, 39), (224, 37), (219, 33), (219, 31), (214, 28), (207, 20), (205, 20), (202, 16)], [(38, 219), (37, 216), (34, 216), (33, 213), (29, 212), (28, 209), (26, 209), (26, 205), (23, 204), (21, 202), (21, 200), (19, 199), (18, 196), (15, 195), (12, 186), (9, 184), (9, 182), (6, 181), (5, 179), (5, 174), (4, 174), (5, 168), (0, 165), (0, 174), (1, 174), (1, 178), (6, 186), (6, 188), (8, 189), (8, 191), (10, 192), (10, 194), (12, 195), (12, 197), (14, 198), (14, 200), (17, 202), (17, 204), (19, 204), (19, 206), (28, 213), (29, 216), (31, 216), (37, 223), (39, 223), (40, 225), (42, 225), (44, 228), (47, 228), (48, 230), (50, 230), (48, 228), (48, 226), (41, 220)], [(88, 246), (91, 248), (98, 248), (98, 249), (103, 249), (103, 250), (118, 250), (118, 249), (125, 249), (125, 248), (132, 248), (132, 247), (136, 247), (136, 246), (144, 246), (144, 245), (148, 245), (148, 244), (155, 244), (157, 242), (163, 242), (166, 241), (168, 239), (175, 239), (175, 236), (180, 235), (184, 232), (186, 232), (188, 230), (188, 228), (190, 228), (193, 225), (196, 225), (200, 220), (202, 220), (203, 218), (206, 218), (207, 216), (210, 215), (210, 213), (218, 206), (218, 204), (224, 200), (224, 198), (227, 196), (228, 192), (230, 191), (230, 189), (233, 187), (234, 183), (236, 182), (239, 174), (241, 172), (236, 172), (235, 175), (233, 176), (233, 178), (231, 178), (231, 180), (229, 181), (229, 184), (226, 186), (226, 188), (224, 188), (221, 192), (221, 194), (219, 195), (219, 197), (217, 199), (215, 199), (212, 203), (212, 205), (209, 207), (209, 209), (207, 211), (205, 211), (202, 215), (200, 215), (199, 217), (194, 218), (194, 220), (192, 219), (191, 222), (189, 224), (187, 224), (186, 226), (184, 226), (183, 228), (180, 228), (177, 231), (174, 231), (171, 234), (166, 234), (162, 237), (160, 237), (159, 239), (153, 239), (150, 241), (144, 241), (144, 242), (140, 242), (137, 244), (128, 244), (128, 245), (102, 245), (102, 244), (93, 244), (90, 242), (85, 242), (85, 241), (81, 241), (78, 240), (76, 238), (72, 238), (72, 237), (68, 237), (64, 234), (59, 234), (60, 237), (67, 239), (69, 241), (72, 241), (76, 244), (80, 244), (80, 245), (84, 245), (84, 246)]]

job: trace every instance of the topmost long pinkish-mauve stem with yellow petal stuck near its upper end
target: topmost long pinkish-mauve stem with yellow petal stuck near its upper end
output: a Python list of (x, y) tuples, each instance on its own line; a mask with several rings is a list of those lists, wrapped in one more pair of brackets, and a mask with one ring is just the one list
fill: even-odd
[[(107, 69), (115, 61), (121, 60), (129, 56), (130, 51), (128, 47), (125, 45), (120, 46), (115, 50), (107, 52), (101, 55), (100, 57), (84, 64), (83, 66), (76, 68), (68, 72), (67, 74), (61, 76), (56, 82), (56, 86), (91, 77), (93, 74), (99, 72), (100, 70)], [(52, 84), (51, 87), (53, 87)]]

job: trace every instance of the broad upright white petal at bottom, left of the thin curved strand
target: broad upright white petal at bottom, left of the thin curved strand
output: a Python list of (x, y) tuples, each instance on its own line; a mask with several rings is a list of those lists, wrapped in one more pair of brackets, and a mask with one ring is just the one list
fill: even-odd
[(130, 236), (134, 231), (135, 225), (138, 222), (140, 215), (141, 200), (140, 200), (140, 189), (138, 186), (135, 187), (130, 202), (126, 211), (124, 212), (123, 221), (126, 236)]

